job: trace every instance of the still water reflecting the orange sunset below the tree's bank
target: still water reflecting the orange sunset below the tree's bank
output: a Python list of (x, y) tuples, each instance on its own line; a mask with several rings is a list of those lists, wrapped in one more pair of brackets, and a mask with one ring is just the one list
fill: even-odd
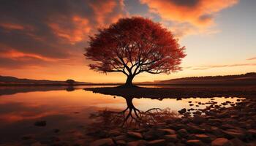
[[(83, 127), (91, 123), (91, 113), (99, 110), (124, 110), (127, 102), (123, 97), (103, 95), (84, 91), (78, 87), (75, 91), (68, 91), (61, 87), (35, 88), (0, 88), (0, 144), (19, 140), (28, 134), (49, 134), (53, 129), (61, 131)], [(170, 108), (177, 112), (182, 108), (203, 109), (207, 104), (216, 101), (221, 104), (225, 101), (236, 103), (238, 97), (224, 98), (189, 98), (189, 99), (132, 99), (138, 110), (146, 111), (151, 108)], [(190, 101), (190, 103), (189, 103)], [(194, 104), (190, 105), (189, 104)], [(196, 107), (197, 105), (197, 107)], [(228, 107), (229, 105), (227, 105)], [(37, 120), (47, 121), (47, 126), (37, 127)]]

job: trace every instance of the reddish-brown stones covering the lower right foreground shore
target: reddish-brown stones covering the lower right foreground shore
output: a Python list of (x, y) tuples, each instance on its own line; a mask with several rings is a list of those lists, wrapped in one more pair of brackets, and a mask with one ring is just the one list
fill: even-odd
[(194, 112), (193, 117), (183, 109), (179, 111), (181, 118), (165, 119), (153, 126), (97, 131), (91, 135), (98, 139), (89, 145), (256, 145), (256, 100), (245, 99), (232, 105), (225, 108), (212, 102), (206, 109)]

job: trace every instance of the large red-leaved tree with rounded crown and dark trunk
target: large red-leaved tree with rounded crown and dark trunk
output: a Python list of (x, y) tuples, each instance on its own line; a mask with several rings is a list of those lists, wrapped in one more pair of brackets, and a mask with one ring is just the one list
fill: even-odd
[(124, 86), (132, 86), (137, 74), (160, 74), (181, 70), (185, 47), (159, 23), (141, 17), (121, 18), (90, 37), (86, 58), (94, 61), (90, 69), (97, 72), (122, 72)]

